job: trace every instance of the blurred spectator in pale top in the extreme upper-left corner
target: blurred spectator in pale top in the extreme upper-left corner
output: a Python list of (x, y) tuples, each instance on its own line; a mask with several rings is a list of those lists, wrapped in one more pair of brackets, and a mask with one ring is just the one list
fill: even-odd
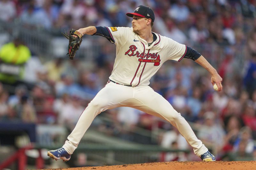
[(11, 21), (16, 16), (15, 4), (11, 0), (0, 1), (0, 20)]

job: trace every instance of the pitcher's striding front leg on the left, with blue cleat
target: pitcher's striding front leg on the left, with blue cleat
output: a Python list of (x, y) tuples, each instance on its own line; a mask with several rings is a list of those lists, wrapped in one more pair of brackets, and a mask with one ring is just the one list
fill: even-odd
[(55, 160), (69, 160), (93, 119), (107, 109), (120, 107), (119, 103), (132, 98), (132, 95), (131, 87), (108, 83), (85, 108), (65, 144), (60, 149), (49, 151), (48, 156)]

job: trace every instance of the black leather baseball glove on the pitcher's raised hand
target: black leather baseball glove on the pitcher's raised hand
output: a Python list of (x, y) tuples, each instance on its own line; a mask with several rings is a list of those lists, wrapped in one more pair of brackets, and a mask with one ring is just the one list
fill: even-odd
[[(69, 40), (67, 55), (69, 56), (69, 59), (73, 60), (76, 55), (76, 51), (80, 47), (83, 35), (74, 29), (71, 29), (69, 31), (69, 35), (66, 32), (62, 33), (62, 35), (64, 35), (64, 37), (66, 37)], [(76, 35), (77, 37), (73, 37), (73, 35)]]

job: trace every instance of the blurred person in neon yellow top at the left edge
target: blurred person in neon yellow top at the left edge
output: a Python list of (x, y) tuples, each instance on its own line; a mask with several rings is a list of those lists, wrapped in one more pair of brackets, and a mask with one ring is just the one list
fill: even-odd
[(0, 49), (0, 81), (13, 84), (20, 80), (30, 57), (30, 50), (19, 39), (4, 44)]

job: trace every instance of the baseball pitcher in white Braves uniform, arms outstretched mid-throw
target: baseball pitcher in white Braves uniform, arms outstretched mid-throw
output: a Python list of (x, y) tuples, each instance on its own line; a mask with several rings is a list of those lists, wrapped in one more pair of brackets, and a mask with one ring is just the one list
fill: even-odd
[[(78, 29), (76, 33), (73, 31), (75, 34), (71, 36), (79, 39), (79, 35), (84, 34), (107, 38), (116, 45), (116, 58), (107, 85), (85, 108), (65, 144), (60, 149), (49, 151), (48, 156), (68, 161), (98, 114), (116, 107), (132, 107), (167, 120), (185, 137), (198, 157), (203, 161), (215, 161), (188, 122), (148, 85), (150, 78), (165, 61), (181, 61), (183, 58), (190, 58), (208, 70), (212, 75), (212, 85), (215, 83), (218, 91), (222, 90), (222, 78), (193, 48), (152, 32), (155, 15), (151, 8), (140, 5), (133, 13), (126, 15), (133, 18), (132, 27), (89, 26)], [(72, 51), (72, 47), (70, 49)]]

